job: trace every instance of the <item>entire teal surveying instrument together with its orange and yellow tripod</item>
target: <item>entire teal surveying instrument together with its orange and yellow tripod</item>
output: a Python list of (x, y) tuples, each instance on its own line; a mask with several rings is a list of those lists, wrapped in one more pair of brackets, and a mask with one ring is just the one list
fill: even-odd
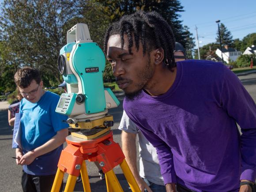
[(103, 86), (105, 56), (90, 39), (87, 24), (79, 23), (67, 32), (67, 45), (60, 49), (58, 69), (67, 83), (68, 93), (61, 94), (56, 112), (68, 116), (71, 135), (62, 150), (51, 192), (59, 192), (64, 173), (68, 181), (64, 192), (72, 192), (81, 173), (83, 188), (90, 192), (85, 160), (99, 162), (105, 173), (108, 192), (123, 192), (113, 168), (120, 165), (133, 192), (140, 192), (118, 143), (113, 141), (113, 116), (108, 109), (120, 102)]

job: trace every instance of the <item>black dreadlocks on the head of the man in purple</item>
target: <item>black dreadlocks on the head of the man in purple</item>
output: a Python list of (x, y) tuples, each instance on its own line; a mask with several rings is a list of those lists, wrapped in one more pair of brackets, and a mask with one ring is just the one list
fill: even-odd
[(121, 37), (122, 49), (124, 48), (124, 34), (128, 36), (129, 53), (132, 52), (134, 36), (137, 51), (139, 50), (139, 41), (142, 43), (143, 56), (153, 49), (162, 48), (165, 55), (165, 64), (169, 69), (176, 66), (173, 56), (175, 48), (173, 31), (166, 20), (157, 12), (137, 11), (132, 15), (124, 15), (119, 21), (112, 23), (104, 38), (105, 55), (107, 54), (109, 37), (115, 34), (119, 34)]

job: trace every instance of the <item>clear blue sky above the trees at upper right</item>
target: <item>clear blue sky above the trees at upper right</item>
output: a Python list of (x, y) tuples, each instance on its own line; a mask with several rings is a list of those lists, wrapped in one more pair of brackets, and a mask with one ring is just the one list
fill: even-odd
[[(181, 0), (183, 24), (190, 28), (196, 38), (197, 26), (200, 47), (215, 42), (220, 20), (231, 31), (233, 39), (240, 40), (256, 33), (256, 0)], [(196, 41), (197, 47), (197, 41)]]

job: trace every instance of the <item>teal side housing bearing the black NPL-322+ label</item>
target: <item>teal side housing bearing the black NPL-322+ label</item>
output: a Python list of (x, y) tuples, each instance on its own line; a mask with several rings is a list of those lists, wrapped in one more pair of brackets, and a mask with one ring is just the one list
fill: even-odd
[(105, 56), (97, 43), (78, 43), (72, 54), (72, 64), (81, 79), (87, 114), (100, 113), (106, 109), (102, 75)]

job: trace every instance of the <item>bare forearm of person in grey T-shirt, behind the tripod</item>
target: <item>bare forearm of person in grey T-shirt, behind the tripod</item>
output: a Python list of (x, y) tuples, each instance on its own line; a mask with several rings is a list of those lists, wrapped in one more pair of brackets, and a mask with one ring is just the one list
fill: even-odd
[(122, 132), (122, 150), (125, 156), (125, 160), (128, 163), (129, 168), (136, 181), (140, 178), (137, 169), (137, 153), (136, 153), (136, 134)]

